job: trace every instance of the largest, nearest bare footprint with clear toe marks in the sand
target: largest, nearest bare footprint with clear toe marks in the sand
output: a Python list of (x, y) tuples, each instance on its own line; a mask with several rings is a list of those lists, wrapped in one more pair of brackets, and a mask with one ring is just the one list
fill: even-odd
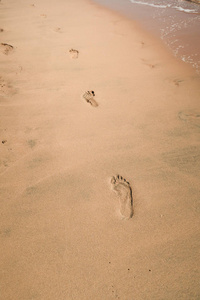
[(118, 194), (120, 199), (120, 213), (126, 219), (133, 216), (133, 196), (130, 183), (122, 176), (117, 175), (111, 178), (112, 189)]

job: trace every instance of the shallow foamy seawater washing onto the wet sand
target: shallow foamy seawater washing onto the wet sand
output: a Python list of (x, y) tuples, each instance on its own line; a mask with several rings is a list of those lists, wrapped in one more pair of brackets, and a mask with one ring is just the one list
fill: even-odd
[(139, 21), (200, 74), (200, 5), (183, 0), (94, 0)]

